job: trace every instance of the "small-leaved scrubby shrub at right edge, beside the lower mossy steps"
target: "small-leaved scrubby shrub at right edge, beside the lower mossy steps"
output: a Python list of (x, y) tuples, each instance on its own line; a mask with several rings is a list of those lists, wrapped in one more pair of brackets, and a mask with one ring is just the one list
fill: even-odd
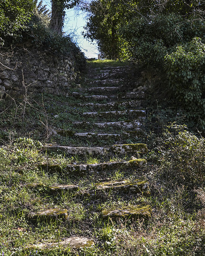
[[(180, 127), (172, 127), (177, 132)], [(205, 139), (197, 138), (195, 135), (184, 130), (167, 134), (158, 147), (160, 157), (158, 158), (161, 175), (167, 181), (183, 184), (189, 187), (198, 187), (204, 184), (205, 169)]]

